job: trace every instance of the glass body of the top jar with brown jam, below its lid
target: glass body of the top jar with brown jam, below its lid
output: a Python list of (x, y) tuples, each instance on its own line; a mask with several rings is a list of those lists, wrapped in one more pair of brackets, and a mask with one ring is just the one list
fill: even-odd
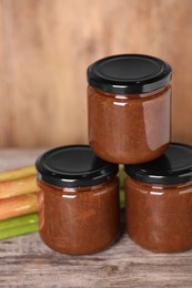
[(117, 95), (88, 86), (89, 143), (113, 163), (142, 163), (170, 143), (171, 86), (145, 94)]

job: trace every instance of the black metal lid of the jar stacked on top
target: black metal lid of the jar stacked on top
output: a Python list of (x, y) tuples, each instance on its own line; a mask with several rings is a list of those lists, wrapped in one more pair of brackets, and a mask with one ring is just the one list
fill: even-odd
[(103, 58), (88, 68), (88, 83), (107, 93), (145, 93), (168, 85), (171, 66), (161, 59), (142, 54)]

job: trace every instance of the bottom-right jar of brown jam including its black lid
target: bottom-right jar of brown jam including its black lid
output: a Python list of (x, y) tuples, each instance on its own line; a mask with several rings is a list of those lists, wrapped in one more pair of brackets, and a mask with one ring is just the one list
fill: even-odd
[(127, 230), (143, 248), (192, 248), (192, 147), (172, 143), (160, 158), (125, 165)]

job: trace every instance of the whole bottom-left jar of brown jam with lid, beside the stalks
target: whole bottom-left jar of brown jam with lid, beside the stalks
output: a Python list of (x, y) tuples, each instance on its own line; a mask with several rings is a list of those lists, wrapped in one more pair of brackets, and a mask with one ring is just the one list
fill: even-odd
[(39, 233), (53, 250), (85, 255), (120, 234), (118, 165), (87, 145), (48, 151), (37, 160)]

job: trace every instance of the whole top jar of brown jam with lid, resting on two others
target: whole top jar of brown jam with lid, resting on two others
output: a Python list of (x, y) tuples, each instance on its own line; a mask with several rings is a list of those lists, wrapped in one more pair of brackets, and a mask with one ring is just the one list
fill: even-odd
[(152, 161), (170, 143), (171, 68), (149, 55), (101, 59), (88, 68), (89, 143), (101, 158)]

